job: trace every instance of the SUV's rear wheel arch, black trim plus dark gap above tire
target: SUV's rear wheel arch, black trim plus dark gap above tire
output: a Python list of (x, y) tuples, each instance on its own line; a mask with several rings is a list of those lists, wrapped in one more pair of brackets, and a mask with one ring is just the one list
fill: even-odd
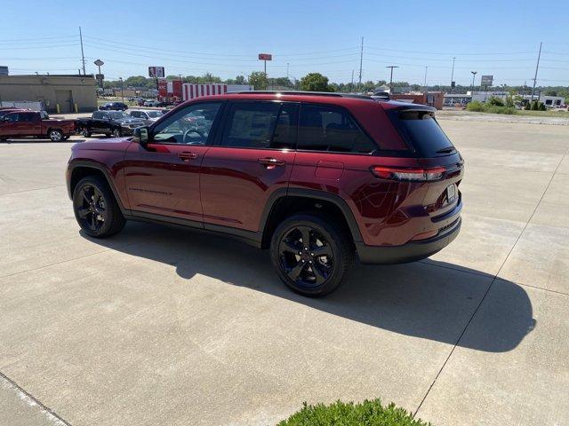
[(268, 248), (272, 233), (284, 217), (309, 209), (315, 211), (322, 209), (328, 215), (332, 215), (341, 221), (352, 241), (362, 241), (356, 218), (348, 203), (339, 195), (312, 189), (282, 188), (270, 195), (260, 217), (261, 247)]

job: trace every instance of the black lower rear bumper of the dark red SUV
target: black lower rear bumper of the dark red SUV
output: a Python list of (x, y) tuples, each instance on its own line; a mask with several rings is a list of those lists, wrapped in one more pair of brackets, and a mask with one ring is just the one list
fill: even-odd
[(408, 242), (402, 246), (367, 246), (357, 242), (357, 255), (362, 264), (405, 264), (437, 253), (449, 245), (461, 231), (461, 217), (444, 233), (429, 240)]

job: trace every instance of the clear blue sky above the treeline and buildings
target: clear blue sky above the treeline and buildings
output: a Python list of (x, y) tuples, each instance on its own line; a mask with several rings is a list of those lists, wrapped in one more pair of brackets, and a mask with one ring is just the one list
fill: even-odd
[[(55, 5), (57, 4), (57, 6)], [(222, 78), (262, 70), (257, 54), (273, 54), (269, 76), (320, 72), (348, 83), (362, 79), (470, 84), (470, 71), (494, 83), (531, 84), (543, 42), (538, 84), (569, 85), (569, 1), (106, 1), (2, 3), (0, 65), (12, 74), (65, 74), (81, 66), (83, 28), (87, 73), (105, 61), (110, 79), (166, 74)]]

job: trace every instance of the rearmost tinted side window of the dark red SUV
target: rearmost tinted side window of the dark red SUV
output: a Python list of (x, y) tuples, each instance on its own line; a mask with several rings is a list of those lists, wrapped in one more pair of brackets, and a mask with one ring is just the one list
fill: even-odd
[(369, 154), (377, 146), (346, 111), (333, 106), (302, 105), (298, 149)]

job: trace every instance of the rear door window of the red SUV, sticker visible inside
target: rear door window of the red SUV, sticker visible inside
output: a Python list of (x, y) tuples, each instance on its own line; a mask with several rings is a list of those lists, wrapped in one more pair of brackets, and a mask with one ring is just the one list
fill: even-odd
[(228, 111), (222, 146), (269, 148), (281, 104), (235, 102)]

